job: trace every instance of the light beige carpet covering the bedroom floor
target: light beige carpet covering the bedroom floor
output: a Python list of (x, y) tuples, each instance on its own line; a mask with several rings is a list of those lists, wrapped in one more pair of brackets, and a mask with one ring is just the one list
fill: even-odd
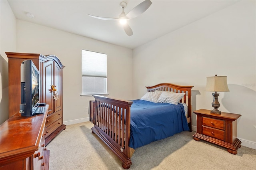
[[(91, 122), (69, 125), (50, 144), (50, 170), (122, 170), (122, 162), (96, 136)], [(256, 170), (256, 150), (242, 146), (236, 155), (193, 139), (184, 131), (137, 148), (130, 170)]]

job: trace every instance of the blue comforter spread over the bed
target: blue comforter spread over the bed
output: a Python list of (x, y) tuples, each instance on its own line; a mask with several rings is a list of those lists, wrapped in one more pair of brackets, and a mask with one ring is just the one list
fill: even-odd
[(184, 130), (189, 127), (182, 104), (133, 100), (129, 147), (136, 149)]

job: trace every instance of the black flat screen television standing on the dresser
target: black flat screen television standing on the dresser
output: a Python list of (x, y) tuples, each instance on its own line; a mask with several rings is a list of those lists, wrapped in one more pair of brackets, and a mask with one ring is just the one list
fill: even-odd
[(40, 73), (32, 60), (25, 60), (20, 65), (21, 104), (22, 116), (30, 117), (41, 114), (38, 111)]

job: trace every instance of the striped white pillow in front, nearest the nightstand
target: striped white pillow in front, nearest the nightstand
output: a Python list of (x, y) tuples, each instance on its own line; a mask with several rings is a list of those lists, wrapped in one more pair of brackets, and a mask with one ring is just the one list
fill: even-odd
[(157, 100), (157, 103), (170, 103), (178, 105), (180, 99), (185, 95), (185, 93), (166, 93), (168, 91), (163, 91), (160, 97)]

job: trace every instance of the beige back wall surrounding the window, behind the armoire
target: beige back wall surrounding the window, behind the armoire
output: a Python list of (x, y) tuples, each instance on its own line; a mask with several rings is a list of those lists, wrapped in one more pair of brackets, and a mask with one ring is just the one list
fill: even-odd
[[(17, 51), (56, 55), (63, 70), (63, 121), (89, 120), (89, 100), (82, 93), (82, 49), (107, 54), (108, 97), (132, 98), (132, 50), (49, 27), (17, 20)], [(50, 87), (50, 85), (49, 85)]]

